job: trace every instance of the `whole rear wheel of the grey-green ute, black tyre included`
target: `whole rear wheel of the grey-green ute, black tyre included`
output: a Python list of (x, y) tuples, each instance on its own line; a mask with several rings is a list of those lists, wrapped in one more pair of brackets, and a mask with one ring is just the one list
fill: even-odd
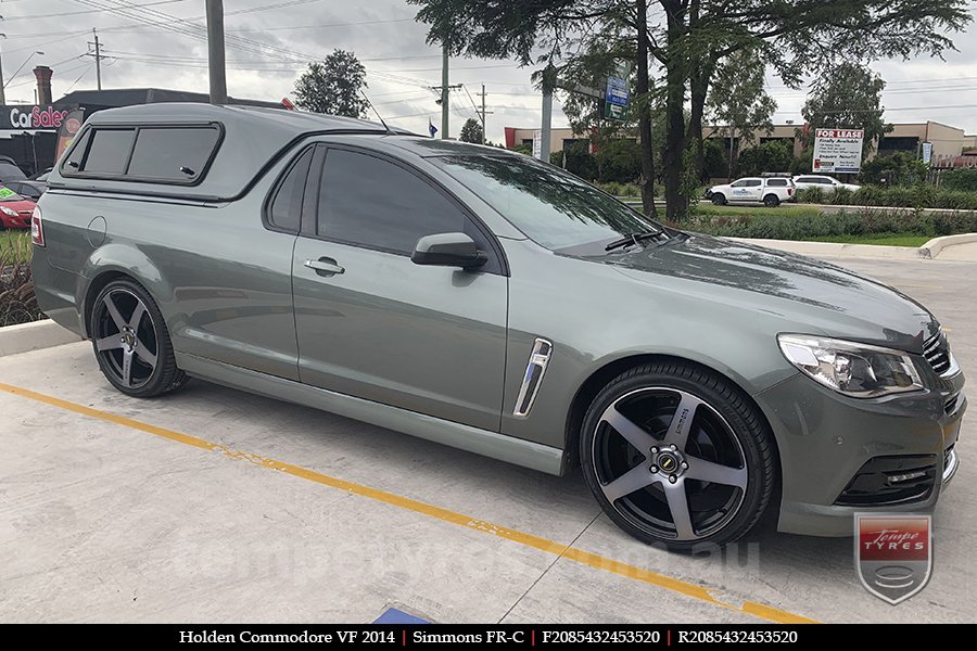
[(122, 393), (151, 398), (186, 383), (163, 315), (136, 282), (115, 280), (99, 292), (89, 332), (99, 368)]

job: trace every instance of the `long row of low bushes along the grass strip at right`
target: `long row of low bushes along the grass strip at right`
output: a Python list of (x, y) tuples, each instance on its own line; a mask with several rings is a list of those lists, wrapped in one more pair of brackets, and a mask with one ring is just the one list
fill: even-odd
[(711, 235), (757, 238), (765, 240), (809, 240), (838, 235), (876, 233), (913, 233), (949, 235), (977, 232), (977, 212), (921, 214), (917, 210), (842, 210), (826, 215), (796, 215), (784, 210), (778, 215), (738, 214), (716, 216), (694, 214), (683, 228)]

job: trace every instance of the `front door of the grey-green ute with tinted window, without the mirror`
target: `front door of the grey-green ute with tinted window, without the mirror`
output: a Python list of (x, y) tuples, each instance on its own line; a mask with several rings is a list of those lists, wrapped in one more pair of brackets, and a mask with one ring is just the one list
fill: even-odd
[[(508, 279), (492, 235), (396, 161), (330, 145), (319, 164), (292, 263), (302, 382), (498, 431)], [(481, 270), (410, 261), (419, 238), (458, 231), (490, 254)]]

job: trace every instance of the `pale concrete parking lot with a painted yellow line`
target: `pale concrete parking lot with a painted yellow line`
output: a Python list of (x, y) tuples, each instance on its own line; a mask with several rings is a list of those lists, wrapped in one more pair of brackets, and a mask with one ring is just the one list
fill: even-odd
[[(834, 258), (932, 309), (977, 373), (977, 263)], [(929, 586), (860, 585), (852, 540), (644, 546), (553, 477), (194, 381), (140, 401), (90, 344), (0, 358), (0, 621), (969, 622), (977, 417), (935, 516)]]

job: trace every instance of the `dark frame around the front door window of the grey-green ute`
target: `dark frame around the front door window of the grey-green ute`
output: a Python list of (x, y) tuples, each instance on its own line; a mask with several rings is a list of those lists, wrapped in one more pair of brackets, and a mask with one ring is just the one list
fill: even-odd
[[(347, 240), (340, 240), (337, 238), (330, 238), (329, 235), (320, 235), (318, 233), (317, 225), (319, 219), (319, 195), (321, 194), (320, 188), (322, 186), (323, 175), (326, 174), (326, 162), (329, 157), (329, 151), (346, 151), (370, 156), (377, 158), (378, 161), (382, 161), (384, 163), (389, 163), (391, 165), (399, 167), (404, 171), (414, 175), (428, 187), (430, 187), (434, 192), (440, 194), (449, 204), (457, 208), (461, 214), (462, 219), (465, 219), (468, 224), (471, 225), (472, 228), (479, 231), (479, 233), (481, 233), (482, 238), (488, 244), (488, 250), (485, 251), (485, 253), (488, 255), (488, 261), (482, 267), (473, 270), (482, 273), (492, 273), (495, 276), (510, 276), (508, 259), (506, 258), (505, 251), (503, 250), (502, 244), (499, 244), (498, 239), (495, 237), (495, 233), (493, 233), (492, 230), (488, 229), (487, 226), (485, 226), (485, 222), (482, 221), (479, 216), (471, 210), (471, 208), (469, 208), (461, 200), (459, 200), (441, 182), (432, 178), (431, 175), (426, 174), (419, 167), (407, 163), (402, 158), (368, 148), (356, 146), (346, 143), (339, 144), (331, 142), (319, 142), (316, 149), (317, 151), (313, 156), (312, 162), (313, 167), (309, 168), (308, 179), (306, 183), (305, 201), (303, 202), (302, 206), (302, 229), (299, 232), (300, 237), (308, 238), (312, 240), (319, 240), (322, 242), (330, 242), (333, 244), (340, 244), (342, 246), (353, 246), (355, 248), (377, 251), (379, 253), (385, 253), (388, 255), (395, 255), (397, 257), (407, 258), (408, 260), (410, 259), (410, 253), (404, 253), (403, 251), (394, 251), (384, 246), (371, 246), (370, 244), (360, 242), (350, 242)], [(309, 190), (314, 191), (309, 192)]]

